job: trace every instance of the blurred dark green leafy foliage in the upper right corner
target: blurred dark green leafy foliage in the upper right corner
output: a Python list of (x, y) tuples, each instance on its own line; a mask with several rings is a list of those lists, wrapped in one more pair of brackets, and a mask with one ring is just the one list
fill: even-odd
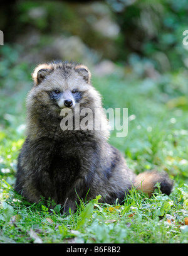
[(120, 58), (130, 52), (154, 61), (160, 72), (187, 67), (187, 48), (182, 44), (188, 24), (188, 2), (182, 0), (107, 0), (121, 27)]

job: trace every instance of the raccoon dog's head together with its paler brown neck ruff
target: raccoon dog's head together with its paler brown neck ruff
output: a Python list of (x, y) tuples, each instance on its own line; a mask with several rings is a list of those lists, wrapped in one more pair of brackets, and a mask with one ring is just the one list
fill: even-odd
[[(71, 114), (66, 116), (68, 112), (70, 113), (70, 109), (73, 110), (71, 113), (74, 116), (79, 116), (78, 124), (73, 123), (76, 130), (78, 127), (81, 130), (100, 130), (100, 126), (103, 127), (103, 130), (108, 130), (107, 117), (103, 114), (101, 96), (91, 86), (91, 73), (85, 65), (49, 62), (38, 65), (32, 76), (34, 86), (26, 101), (28, 134), (33, 133), (33, 137), (39, 136), (39, 131), (42, 132), (42, 128), (45, 133), (48, 132), (47, 126), (50, 125), (50, 129), (52, 129), (51, 125), (53, 123), (56, 125), (55, 120), (59, 122), (63, 116), (70, 118), (67, 121), (70, 121), (68, 123), (71, 124), (71, 121), (73, 121)], [(78, 106), (79, 108), (77, 108)], [(96, 112), (96, 114), (96, 109), (100, 109), (100, 113)], [(84, 119), (85, 115), (86, 120)], [(62, 121), (65, 121), (66, 130), (66, 119), (63, 118), (61, 123)], [(96, 124), (100, 125), (99, 128)], [(63, 129), (61, 128), (61, 130)], [(103, 130), (103, 135), (100, 134), (100, 137), (107, 137), (108, 131), (104, 132)]]

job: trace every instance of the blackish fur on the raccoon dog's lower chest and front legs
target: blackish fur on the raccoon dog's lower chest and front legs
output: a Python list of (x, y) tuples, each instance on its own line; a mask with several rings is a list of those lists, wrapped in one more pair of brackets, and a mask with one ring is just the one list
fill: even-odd
[(83, 196), (90, 189), (100, 157), (98, 144), (93, 136), (80, 131), (64, 135), (58, 140), (27, 138), (24, 143), (19, 156), (19, 180), (24, 187), (30, 187), (29, 191), (33, 191), (34, 184), (34, 194), (28, 195), (23, 188), (23, 195), (30, 201), (36, 200), (37, 194), (63, 203), (70, 193), (76, 191)]

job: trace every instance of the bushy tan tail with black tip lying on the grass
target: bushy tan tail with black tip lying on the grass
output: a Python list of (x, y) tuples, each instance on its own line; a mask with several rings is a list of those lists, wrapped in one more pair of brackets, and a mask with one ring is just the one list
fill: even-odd
[(142, 191), (151, 196), (157, 182), (160, 183), (160, 191), (169, 195), (174, 182), (169, 179), (169, 175), (166, 172), (157, 172), (155, 170), (142, 172), (138, 174), (135, 179), (135, 187), (137, 187), (138, 191)]

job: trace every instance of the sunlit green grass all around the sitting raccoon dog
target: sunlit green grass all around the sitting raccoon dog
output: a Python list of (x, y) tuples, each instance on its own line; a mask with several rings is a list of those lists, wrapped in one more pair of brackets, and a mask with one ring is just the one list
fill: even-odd
[[(119, 148), (136, 173), (166, 170), (174, 179), (170, 196), (152, 198), (130, 192), (125, 203), (110, 206), (80, 201), (64, 216), (57, 205), (29, 204), (14, 192), (16, 159), (24, 141), (25, 106), (31, 67), (18, 63), (19, 49), (3, 48), (0, 64), (0, 243), (187, 243), (188, 106), (187, 73), (150, 79), (133, 67), (93, 77), (105, 108), (128, 108), (128, 135), (110, 143)], [(142, 63), (141, 63), (142, 64)], [(142, 65), (141, 65), (142, 67)], [(50, 202), (49, 202), (50, 205)]]

